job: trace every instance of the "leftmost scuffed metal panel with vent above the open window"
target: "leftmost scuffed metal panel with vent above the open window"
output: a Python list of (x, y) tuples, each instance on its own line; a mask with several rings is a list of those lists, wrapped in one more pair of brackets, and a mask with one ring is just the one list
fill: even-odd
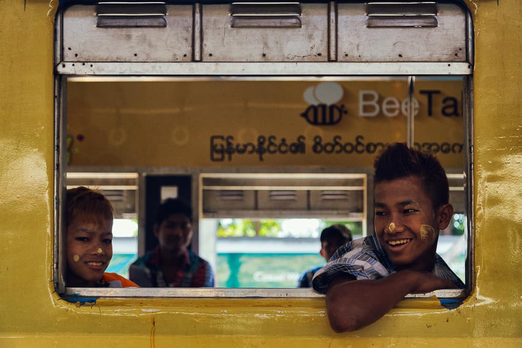
[[(150, 16), (141, 19), (131, 15), (97, 17), (97, 6), (67, 8), (63, 14), (64, 61), (192, 61), (193, 6), (165, 5), (164, 8), (166, 15), (155, 17), (164, 20), (164, 27), (156, 26)], [(112, 18), (112, 22), (107, 22), (106, 17)], [(99, 27), (99, 19), (105, 20), (102, 27)]]

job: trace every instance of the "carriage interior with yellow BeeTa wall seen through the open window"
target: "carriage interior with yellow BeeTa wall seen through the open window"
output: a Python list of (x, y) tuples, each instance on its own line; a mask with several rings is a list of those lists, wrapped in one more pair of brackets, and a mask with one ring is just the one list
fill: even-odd
[[(437, 251), (465, 280), (463, 88), (417, 78), (413, 134), (448, 172), (456, 214)], [(183, 196), (197, 219), (192, 250), (218, 287), (294, 287), (324, 265), (324, 227), (373, 233), (372, 161), (407, 140), (407, 93), (402, 77), (69, 78), (67, 187), (98, 187), (115, 207), (108, 271), (127, 275), (156, 246), (150, 207)]]

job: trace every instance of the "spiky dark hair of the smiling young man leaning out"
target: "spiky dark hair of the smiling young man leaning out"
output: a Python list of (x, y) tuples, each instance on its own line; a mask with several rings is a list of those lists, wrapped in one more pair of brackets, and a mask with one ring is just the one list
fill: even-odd
[(434, 208), (449, 201), (446, 172), (431, 153), (408, 148), (406, 143), (396, 142), (388, 145), (375, 158), (374, 169), (375, 184), (407, 176), (419, 176)]

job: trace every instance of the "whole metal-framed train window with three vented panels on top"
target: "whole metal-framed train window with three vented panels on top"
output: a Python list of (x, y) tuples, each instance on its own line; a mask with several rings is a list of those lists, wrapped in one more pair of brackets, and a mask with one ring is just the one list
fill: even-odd
[[(471, 288), (472, 29), (459, 5), (82, 2), (56, 23), (58, 292), (319, 296), (288, 288), (324, 263), (323, 227), (373, 233), (373, 157), (395, 141), (445, 167), (455, 215), (437, 251)], [(218, 287), (67, 287), (63, 202), (78, 185), (124, 220), (121, 274), (155, 246), (153, 207), (191, 201), (191, 248)]]

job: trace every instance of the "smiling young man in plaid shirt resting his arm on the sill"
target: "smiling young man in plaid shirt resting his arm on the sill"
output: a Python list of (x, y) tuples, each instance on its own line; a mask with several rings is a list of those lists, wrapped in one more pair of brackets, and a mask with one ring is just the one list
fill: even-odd
[(436, 254), (439, 231), (453, 217), (441, 164), (395, 143), (374, 169), (375, 235), (340, 247), (313, 279), (336, 332), (371, 324), (408, 293), (464, 287)]

